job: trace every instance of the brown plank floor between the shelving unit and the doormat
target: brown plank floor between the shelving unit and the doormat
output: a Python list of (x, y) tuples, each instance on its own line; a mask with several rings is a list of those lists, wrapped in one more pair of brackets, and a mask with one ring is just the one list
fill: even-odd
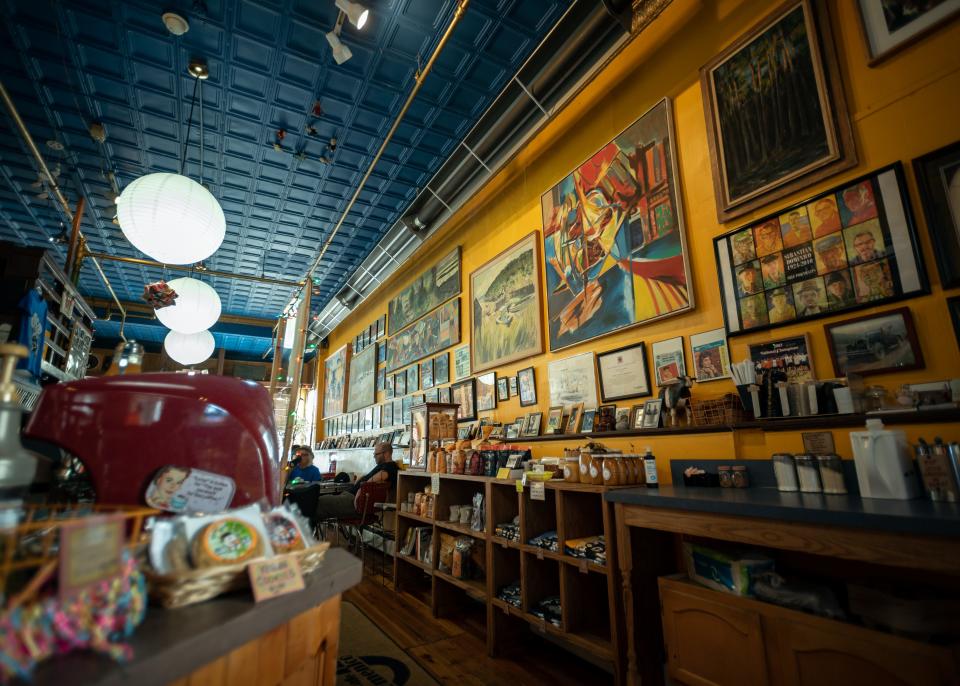
[(612, 684), (612, 676), (526, 631), (513, 659), (487, 657), (480, 621), (435, 619), (430, 608), (395, 593), (367, 570), (343, 599), (357, 606), (408, 655), (442, 684)]

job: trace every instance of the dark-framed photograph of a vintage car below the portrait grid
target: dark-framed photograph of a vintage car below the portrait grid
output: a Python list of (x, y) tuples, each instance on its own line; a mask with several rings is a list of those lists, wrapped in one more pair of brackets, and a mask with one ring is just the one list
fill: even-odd
[(909, 307), (824, 327), (837, 376), (923, 369), (923, 352)]

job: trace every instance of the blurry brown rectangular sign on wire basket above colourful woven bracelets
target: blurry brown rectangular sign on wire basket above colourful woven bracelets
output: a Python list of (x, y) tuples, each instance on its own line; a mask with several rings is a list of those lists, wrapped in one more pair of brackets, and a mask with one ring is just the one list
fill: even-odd
[(61, 525), (61, 599), (120, 575), (123, 532), (120, 516), (85, 517)]

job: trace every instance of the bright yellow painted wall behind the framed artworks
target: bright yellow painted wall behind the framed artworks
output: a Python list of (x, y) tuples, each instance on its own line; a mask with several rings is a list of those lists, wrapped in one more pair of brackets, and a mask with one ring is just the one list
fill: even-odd
[[(696, 307), (692, 312), (497, 369), (511, 375), (533, 365), (536, 369), (538, 408), (521, 408), (517, 398), (502, 402), (492, 413), (512, 421), (539, 409), (546, 413), (549, 392), (547, 362), (588, 350), (602, 352), (638, 340), (649, 345), (682, 335), (688, 367), (689, 336), (723, 326), (713, 238), (764, 214), (786, 207), (845, 179), (897, 160), (907, 167), (910, 196), (917, 219), (932, 294), (905, 301), (913, 311), (926, 368), (871, 377), (895, 389), (901, 383), (960, 376), (960, 351), (954, 338), (940, 286), (930, 240), (916, 192), (910, 161), (960, 138), (960, 22), (953, 22), (918, 44), (870, 68), (860, 33), (854, 0), (829, 3), (840, 69), (853, 121), (858, 165), (790, 197), (764, 206), (734, 223), (717, 222), (710, 156), (700, 93), (699, 67), (739, 35), (760, 21), (779, 2), (769, 0), (674, 0), (648, 31), (628, 45), (577, 98), (545, 128), (477, 197), (435, 236), (405, 268), (399, 270), (373, 298), (358, 307), (330, 336), (337, 350), (386, 311), (387, 302), (433, 261), (459, 244), (463, 248), (463, 302), (468, 302), (469, 274), (530, 231), (541, 230), (540, 196), (584, 159), (607, 143), (661, 98), (673, 101), (681, 201), (686, 221), (687, 248), (693, 275)], [(954, 291), (954, 294), (957, 291)], [(894, 305), (899, 306), (899, 305)], [(890, 306), (887, 306), (890, 307)], [(874, 308), (859, 314), (881, 311)], [(464, 342), (469, 338), (470, 308), (462, 307)], [(783, 326), (730, 340), (731, 359), (746, 356), (747, 346), (765, 340), (809, 333), (818, 378), (834, 376), (823, 325), (851, 315)], [(546, 337), (546, 332), (544, 332)], [(451, 359), (452, 368), (452, 359)], [(451, 369), (452, 371), (452, 369)], [(694, 396), (715, 397), (733, 390), (730, 381), (697, 384)], [(382, 398), (381, 398), (382, 400)], [(907, 427), (908, 435), (934, 433), (960, 438), (956, 427)], [(838, 452), (850, 456), (845, 431), (835, 432)], [(798, 432), (741, 432), (702, 436), (664, 436), (655, 439), (608, 439), (611, 446), (654, 448), (661, 475), (669, 458), (767, 458), (778, 450), (800, 451)], [(557, 454), (567, 442), (534, 443), (536, 455)], [(666, 471), (665, 471), (666, 470)], [(661, 477), (663, 478), (663, 477)]]

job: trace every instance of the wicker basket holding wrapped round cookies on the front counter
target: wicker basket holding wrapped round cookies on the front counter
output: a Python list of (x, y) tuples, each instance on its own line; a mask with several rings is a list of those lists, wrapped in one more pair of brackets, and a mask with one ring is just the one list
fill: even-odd
[[(323, 556), (326, 555), (329, 547), (330, 543), (324, 541), (306, 550), (290, 554), (300, 561), (301, 571), (304, 574), (310, 574), (323, 562)], [(147, 592), (150, 600), (161, 607), (175, 608), (202, 603), (224, 593), (250, 588), (248, 564), (249, 561), (235, 565), (191, 569), (176, 574), (157, 574), (149, 566), (145, 566), (143, 574), (147, 578)]]

